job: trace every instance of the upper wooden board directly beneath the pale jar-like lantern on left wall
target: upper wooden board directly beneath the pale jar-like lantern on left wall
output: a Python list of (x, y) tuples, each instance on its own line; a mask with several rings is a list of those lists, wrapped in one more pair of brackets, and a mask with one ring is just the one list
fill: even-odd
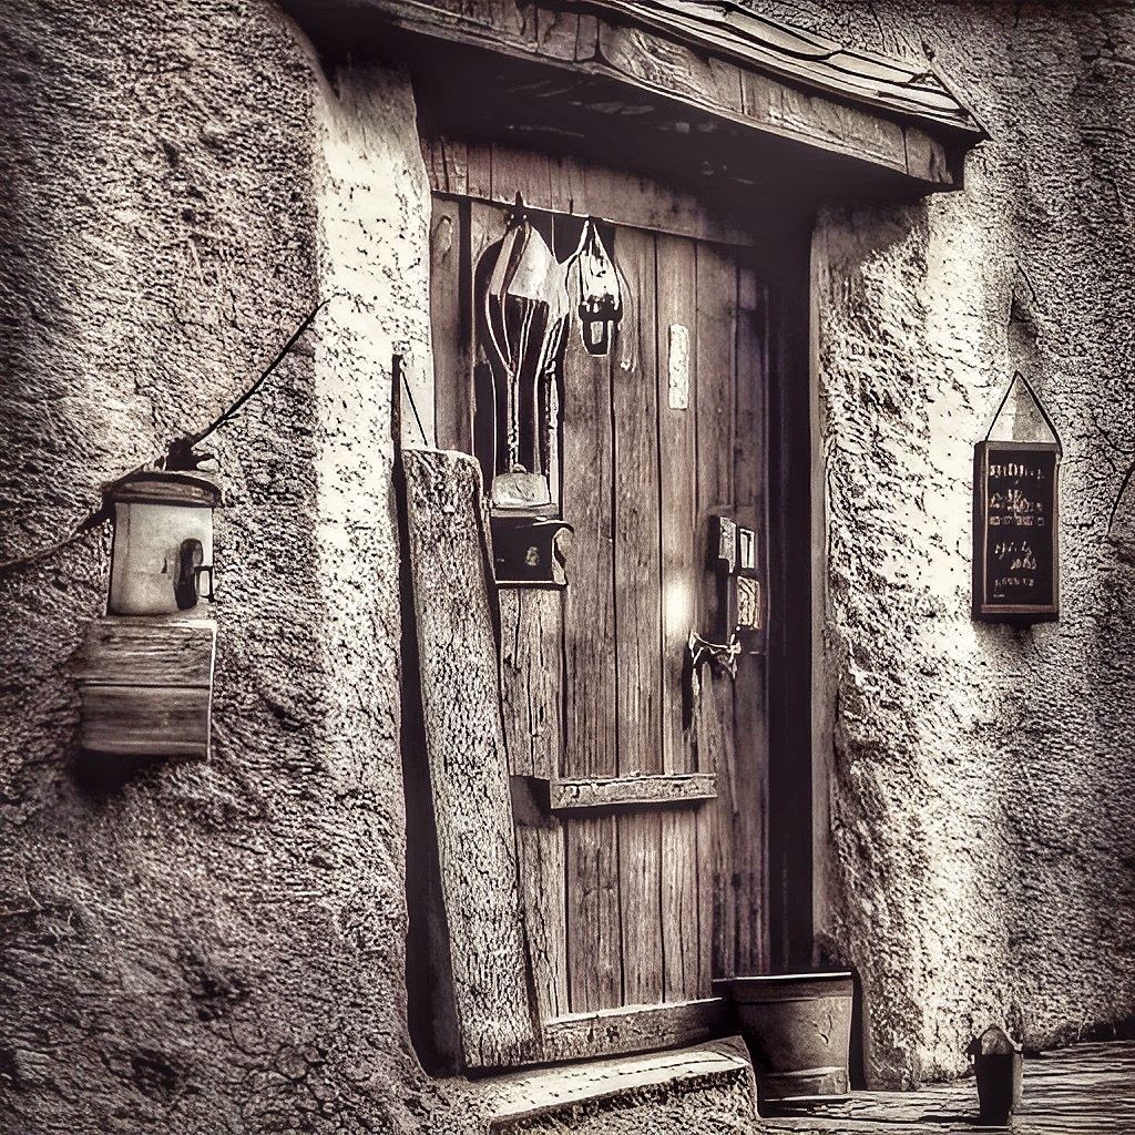
[(212, 620), (106, 615), (87, 624), (75, 676), (132, 688), (209, 689), (216, 645), (217, 624)]

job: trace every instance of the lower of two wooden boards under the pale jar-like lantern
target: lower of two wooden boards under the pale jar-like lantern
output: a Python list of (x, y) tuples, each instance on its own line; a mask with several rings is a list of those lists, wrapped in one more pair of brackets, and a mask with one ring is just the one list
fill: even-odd
[(124, 757), (209, 759), (208, 687), (78, 683), (79, 745)]

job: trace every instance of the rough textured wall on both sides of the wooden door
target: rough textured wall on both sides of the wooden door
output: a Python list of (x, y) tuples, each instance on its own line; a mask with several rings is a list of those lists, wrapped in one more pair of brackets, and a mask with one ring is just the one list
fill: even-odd
[[(817, 916), (872, 1078), (909, 1084), (989, 1020), (1046, 1044), (1135, 1008), (1135, 557), (1105, 533), (1135, 452), (1135, 16), (760, 7), (932, 50), (993, 135), (965, 193), (816, 237)], [(208, 446), (211, 764), (73, 755), (106, 529), (0, 573), (0, 1130), (472, 1129), (405, 1029), (388, 388), (429, 334), (405, 74), (325, 76), (268, 0), (9, 0), (0, 110), (0, 561), (327, 301)], [(1066, 446), (1063, 614), (1033, 630), (969, 619), (972, 445), (1015, 367)]]

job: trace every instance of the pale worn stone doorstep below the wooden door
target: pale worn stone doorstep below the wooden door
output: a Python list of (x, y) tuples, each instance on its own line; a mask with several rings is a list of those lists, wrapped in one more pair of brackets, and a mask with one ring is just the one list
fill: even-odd
[(481, 1081), (490, 1129), (747, 1133), (753, 1065), (739, 1036), (686, 1049), (589, 1060)]

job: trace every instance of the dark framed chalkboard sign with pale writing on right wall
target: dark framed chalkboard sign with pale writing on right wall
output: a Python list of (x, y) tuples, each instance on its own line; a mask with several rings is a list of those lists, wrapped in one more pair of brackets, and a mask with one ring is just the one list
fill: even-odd
[(1060, 446), (981, 442), (974, 448), (974, 619), (1060, 615)]

